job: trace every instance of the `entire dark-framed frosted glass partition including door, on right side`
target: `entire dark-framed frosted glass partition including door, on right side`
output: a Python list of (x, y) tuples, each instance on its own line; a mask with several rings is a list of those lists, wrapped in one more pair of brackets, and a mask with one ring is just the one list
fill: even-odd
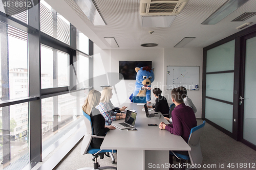
[(202, 118), (256, 150), (256, 25), (204, 48)]

